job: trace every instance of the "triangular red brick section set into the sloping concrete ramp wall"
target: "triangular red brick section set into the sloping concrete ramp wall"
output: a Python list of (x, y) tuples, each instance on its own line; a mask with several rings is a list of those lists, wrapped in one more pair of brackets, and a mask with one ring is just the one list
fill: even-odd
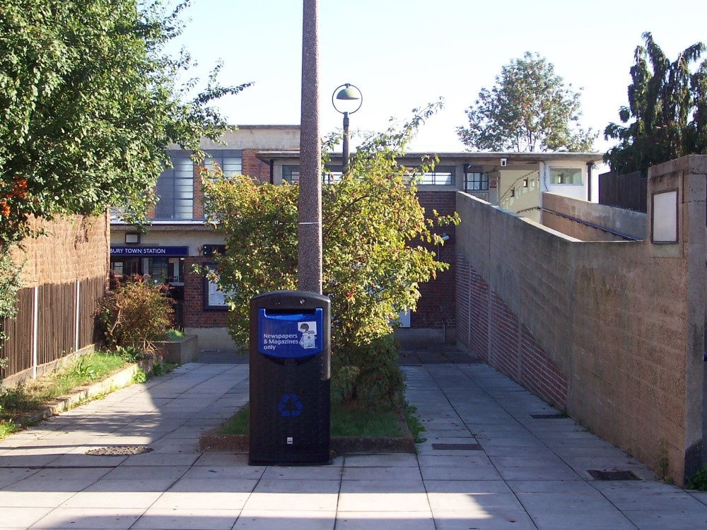
[(567, 379), (518, 315), (457, 256), (457, 341), (557, 408), (567, 406)]

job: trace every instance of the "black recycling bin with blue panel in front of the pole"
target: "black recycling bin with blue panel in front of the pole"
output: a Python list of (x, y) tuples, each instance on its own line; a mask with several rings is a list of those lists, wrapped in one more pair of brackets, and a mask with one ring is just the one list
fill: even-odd
[(329, 462), (329, 314), (308, 291), (250, 300), (251, 465)]

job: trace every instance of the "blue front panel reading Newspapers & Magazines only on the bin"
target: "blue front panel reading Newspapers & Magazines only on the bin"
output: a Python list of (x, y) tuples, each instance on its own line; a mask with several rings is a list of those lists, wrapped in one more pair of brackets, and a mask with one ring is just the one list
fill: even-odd
[(258, 310), (258, 351), (280, 359), (298, 359), (323, 350), (322, 309), (306, 313)]

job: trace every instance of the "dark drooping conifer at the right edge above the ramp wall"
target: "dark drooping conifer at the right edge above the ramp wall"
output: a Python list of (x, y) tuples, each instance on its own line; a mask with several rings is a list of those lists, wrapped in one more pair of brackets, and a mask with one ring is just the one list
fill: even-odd
[[(645, 46), (636, 47), (631, 66), (629, 105), (619, 109), (621, 124), (610, 123), (605, 139), (619, 140), (604, 155), (619, 175), (688, 154), (707, 154), (707, 61), (695, 73), (701, 42), (684, 49), (670, 61), (643, 33)], [(633, 121), (631, 121), (633, 120)]]

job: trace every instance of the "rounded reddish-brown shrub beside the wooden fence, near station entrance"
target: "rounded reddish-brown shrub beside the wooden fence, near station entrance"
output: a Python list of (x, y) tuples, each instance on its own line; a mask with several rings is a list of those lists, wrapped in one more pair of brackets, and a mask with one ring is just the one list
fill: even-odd
[(109, 348), (132, 347), (146, 353), (172, 325), (173, 309), (163, 285), (127, 281), (118, 285), (100, 305), (98, 317)]

